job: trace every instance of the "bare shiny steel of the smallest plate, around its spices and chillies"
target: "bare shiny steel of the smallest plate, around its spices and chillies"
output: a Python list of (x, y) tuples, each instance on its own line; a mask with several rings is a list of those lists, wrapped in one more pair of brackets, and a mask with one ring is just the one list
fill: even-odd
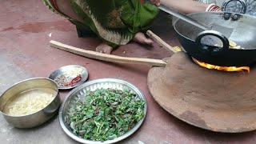
[[(78, 66), (78, 65), (69, 65), (69, 66), (62, 66), (60, 67), (58, 70), (55, 70), (52, 74), (50, 74), (49, 78), (54, 80), (55, 78), (57, 78), (59, 75), (62, 74), (66, 74), (68, 73), (70, 70), (74, 70), (74, 69), (81, 69), (81, 76), (82, 79), (80, 82), (75, 83), (73, 86), (58, 86), (59, 90), (68, 90), (68, 89), (72, 89), (76, 86), (81, 85), (83, 82), (86, 82), (87, 78), (88, 78), (88, 71), (86, 70), (85, 67), (82, 66)], [(70, 79), (71, 80), (71, 79)]]

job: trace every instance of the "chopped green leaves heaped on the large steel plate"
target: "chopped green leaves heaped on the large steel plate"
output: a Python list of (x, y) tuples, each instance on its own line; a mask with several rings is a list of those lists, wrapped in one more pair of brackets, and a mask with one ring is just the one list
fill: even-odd
[(106, 141), (132, 129), (144, 117), (145, 101), (130, 90), (88, 91), (71, 107), (66, 123), (81, 138)]

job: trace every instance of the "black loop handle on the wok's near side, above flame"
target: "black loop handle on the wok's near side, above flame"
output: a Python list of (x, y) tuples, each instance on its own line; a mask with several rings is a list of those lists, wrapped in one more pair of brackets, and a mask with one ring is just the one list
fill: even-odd
[[(212, 35), (212, 36), (215, 36), (215, 37), (221, 39), (223, 46), (218, 47), (218, 46), (209, 46), (209, 45), (202, 44), (201, 39), (207, 35)], [(222, 33), (215, 31), (215, 30), (202, 31), (201, 33), (198, 34), (197, 38), (195, 39), (195, 42), (198, 44), (198, 46), (201, 48), (201, 50), (204, 53), (208, 53), (208, 54), (212, 54), (212, 55), (220, 54), (222, 51), (229, 50), (229, 47), (230, 47), (229, 40)]]

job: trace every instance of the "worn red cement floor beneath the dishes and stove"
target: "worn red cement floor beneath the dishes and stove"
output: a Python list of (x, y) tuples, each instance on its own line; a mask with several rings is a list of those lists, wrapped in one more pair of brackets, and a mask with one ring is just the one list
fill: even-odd
[[(75, 26), (47, 10), (41, 1), (2, 0), (0, 2), (0, 94), (25, 78), (48, 77), (61, 66), (76, 64), (89, 71), (88, 80), (122, 78), (138, 86), (146, 96), (148, 112), (142, 127), (120, 143), (255, 143), (255, 132), (219, 134), (190, 126), (168, 114), (151, 97), (146, 85), (150, 66), (102, 62), (50, 47), (50, 40), (94, 50), (98, 38), (78, 38)], [(170, 20), (169, 20), (170, 21)], [(179, 46), (168, 18), (159, 18), (152, 28), (170, 46)], [(51, 37), (49, 36), (51, 34)], [(171, 54), (159, 47), (131, 42), (114, 50), (124, 57), (162, 59)], [(62, 99), (69, 90), (61, 91)], [(30, 130), (15, 129), (0, 116), (1, 143), (76, 143), (62, 131), (58, 117)]]

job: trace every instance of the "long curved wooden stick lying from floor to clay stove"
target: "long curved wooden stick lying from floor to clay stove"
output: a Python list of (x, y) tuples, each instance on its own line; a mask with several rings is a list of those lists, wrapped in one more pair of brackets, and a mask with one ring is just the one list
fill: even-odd
[(111, 54), (102, 54), (91, 50), (83, 50), (74, 46), (69, 46), (63, 44), (61, 42), (50, 41), (50, 46), (54, 48), (58, 48), (60, 50), (65, 50), (70, 53), (82, 55), (86, 58), (94, 58), (107, 62), (118, 62), (118, 63), (130, 63), (130, 64), (142, 64), (142, 65), (150, 65), (150, 66), (166, 66), (166, 62), (159, 59), (150, 59), (150, 58), (126, 58), (120, 57)]

